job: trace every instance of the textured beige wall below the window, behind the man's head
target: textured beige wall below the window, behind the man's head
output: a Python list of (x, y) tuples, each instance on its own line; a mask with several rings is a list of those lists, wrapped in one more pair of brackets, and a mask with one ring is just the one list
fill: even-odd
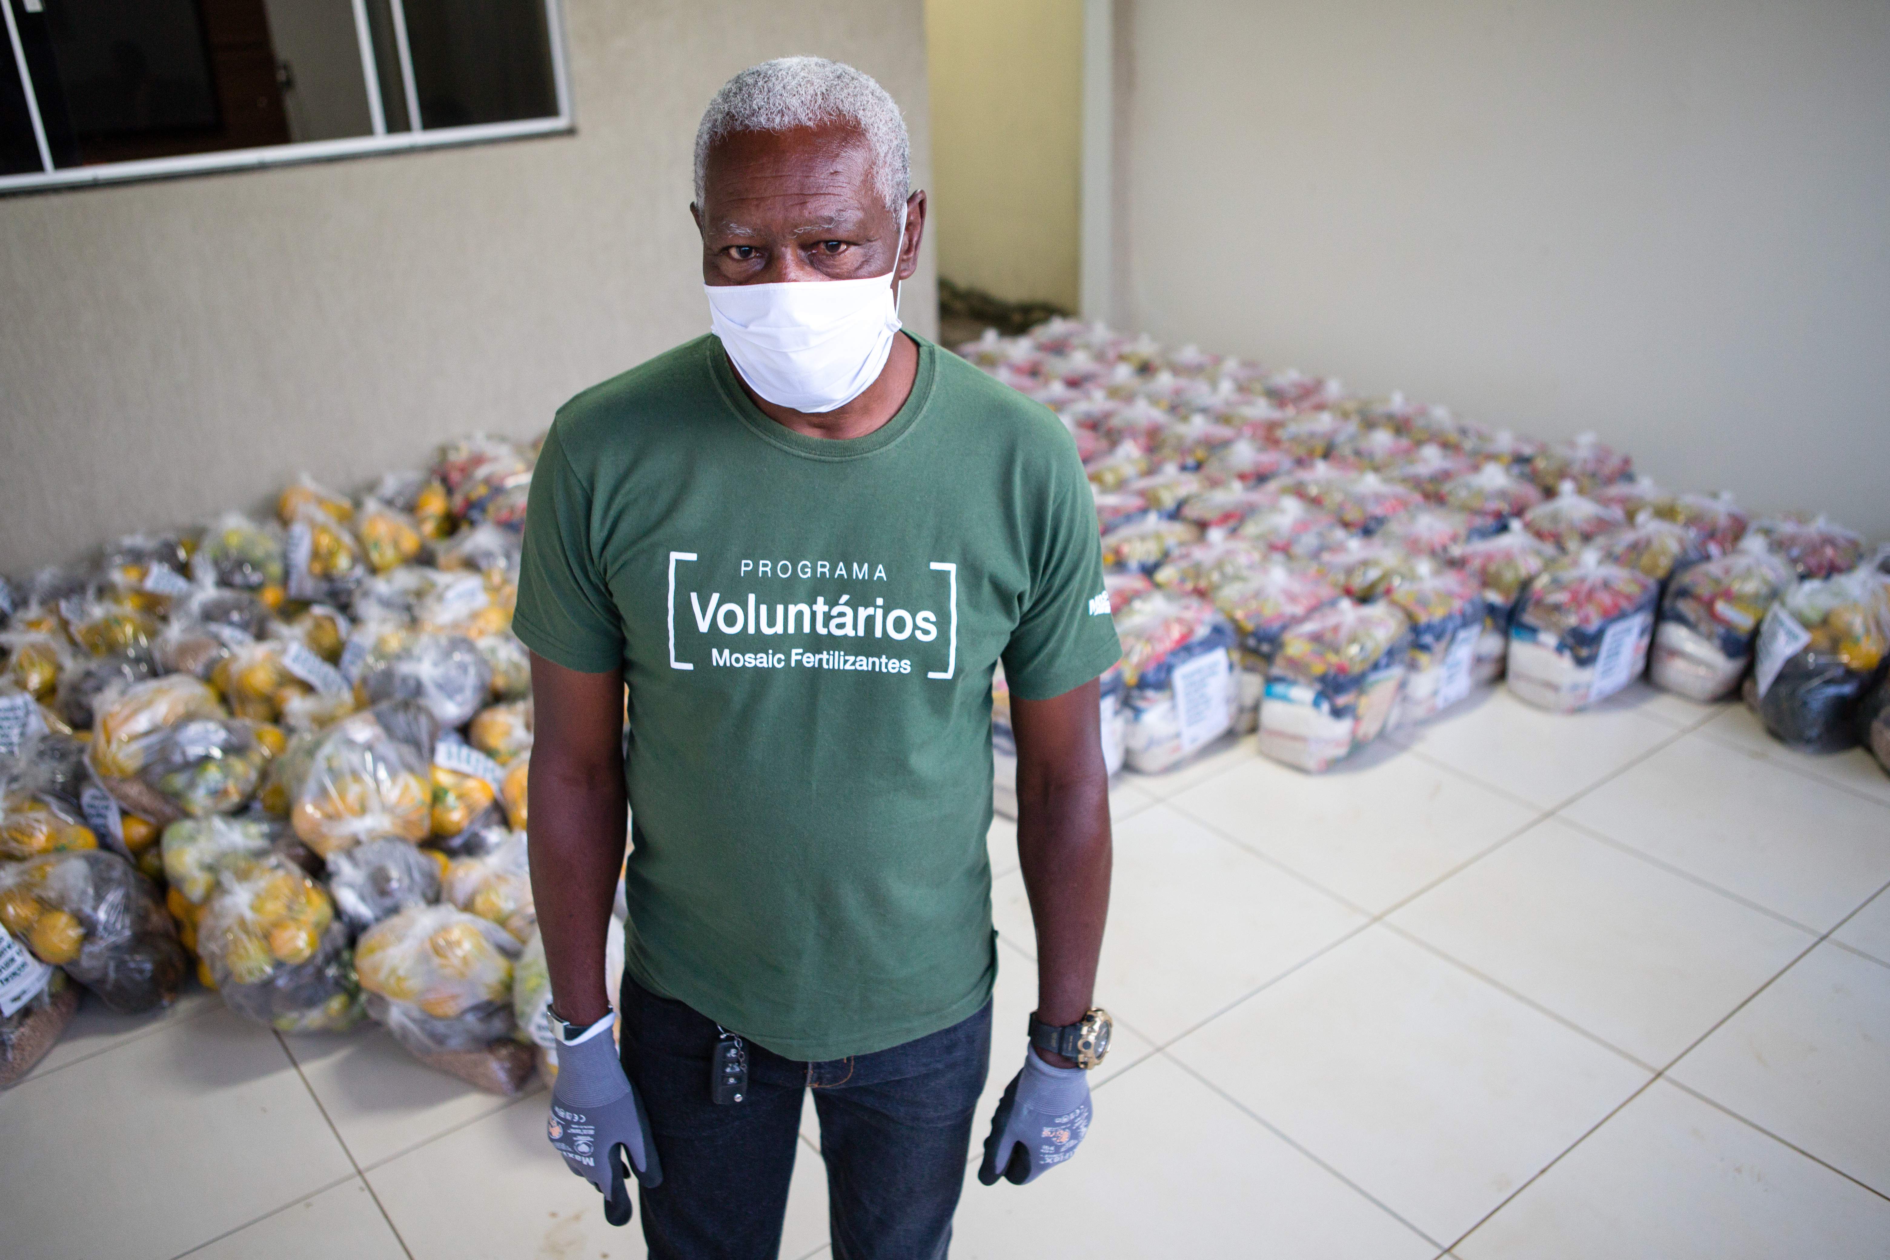
[[(565, 0), (576, 134), (0, 198), (0, 572), (352, 487), (707, 331), (696, 121), (820, 53), (898, 98), (930, 172), (922, 0)], [(902, 312), (936, 327), (932, 266)]]

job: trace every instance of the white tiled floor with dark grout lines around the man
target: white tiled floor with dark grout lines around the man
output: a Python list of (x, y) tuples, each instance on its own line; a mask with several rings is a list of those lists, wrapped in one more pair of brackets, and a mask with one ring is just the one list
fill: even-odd
[[(1242, 741), (1117, 790), (1096, 1126), (1028, 1188), (968, 1177), (954, 1254), (1890, 1252), (1890, 776), (1644, 688), (1495, 691), (1400, 744), (1312, 778)], [(992, 861), (983, 1111), (1034, 1005), (1002, 820)], [(87, 1007), (0, 1094), (0, 1252), (641, 1256), (542, 1107), (206, 994)], [(803, 1135), (786, 1260), (826, 1252)]]

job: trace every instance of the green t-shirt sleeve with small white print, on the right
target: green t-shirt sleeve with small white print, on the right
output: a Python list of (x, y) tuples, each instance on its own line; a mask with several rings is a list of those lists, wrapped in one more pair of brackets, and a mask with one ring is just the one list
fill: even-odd
[(1047, 480), (1049, 512), (1032, 546), (1030, 593), (1004, 648), (1004, 678), (1011, 695), (1026, 701), (1062, 695), (1123, 656), (1102, 587), (1096, 501), (1074, 448), (1058, 453)]

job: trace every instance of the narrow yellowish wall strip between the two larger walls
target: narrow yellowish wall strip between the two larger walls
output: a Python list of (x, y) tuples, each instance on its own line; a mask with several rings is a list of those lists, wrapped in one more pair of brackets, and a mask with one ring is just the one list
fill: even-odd
[(1077, 308), (1083, 2), (928, 0), (939, 274)]

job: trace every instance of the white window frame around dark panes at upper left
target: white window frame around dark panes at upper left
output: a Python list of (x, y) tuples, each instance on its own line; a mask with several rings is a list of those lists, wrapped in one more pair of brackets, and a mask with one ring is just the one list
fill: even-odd
[[(355, 40), (361, 45), (361, 72), (367, 87), (369, 115), (372, 117), (372, 136), (348, 136), (346, 140), (302, 140), (293, 144), (272, 144), (255, 149), (219, 149), (215, 153), (183, 153), (178, 157), (146, 157), (130, 162), (100, 162), (98, 166), (55, 168), (51, 149), (45, 142), (45, 127), (40, 121), (40, 98), (32, 87), (32, 74), (26, 68), (26, 51), (13, 21), (13, 6), (0, 0), (6, 13), (6, 32), (11, 57), (0, 55), (0, 74), (6, 60), (13, 62), (21, 87), (26, 91), (26, 113), (32, 121), (32, 134), (40, 145), (40, 164), (43, 170), (17, 176), (0, 176), (0, 195), (32, 193), (43, 189), (91, 187), (100, 183), (125, 183), (129, 179), (168, 179), (176, 176), (197, 176), (217, 170), (263, 170), (268, 166), (289, 166), (295, 162), (327, 162), (340, 157), (365, 157), (370, 153), (403, 153), (406, 149), (442, 149), (461, 144), (486, 144), (490, 140), (518, 140), (522, 136), (554, 136), (575, 128), (571, 113), (571, 70), (565, 55), (565, 23), (561, 0), (541, 0), (544, 4), (544, 34), (552, 49), (552, 89), (558, 94), (558, 113), (537, 119), (516, 119), (510, 123), (474, 123), (471, 127), (440, 127), (437, 130), (387, 130), (387, 115), (380, 98), (380, 72), (374, 64), (374, 43), (367, 21), (367, 2), (353, 0)], [(393, 9), (393, 28), (397, 60), (401, 66), (401, 87), (406, 96), (408, 123), (420, 127), (420, 108), (414, 91), (414, 66), (406, 51), (406, 11), (401, 0), (389, 0)]]

